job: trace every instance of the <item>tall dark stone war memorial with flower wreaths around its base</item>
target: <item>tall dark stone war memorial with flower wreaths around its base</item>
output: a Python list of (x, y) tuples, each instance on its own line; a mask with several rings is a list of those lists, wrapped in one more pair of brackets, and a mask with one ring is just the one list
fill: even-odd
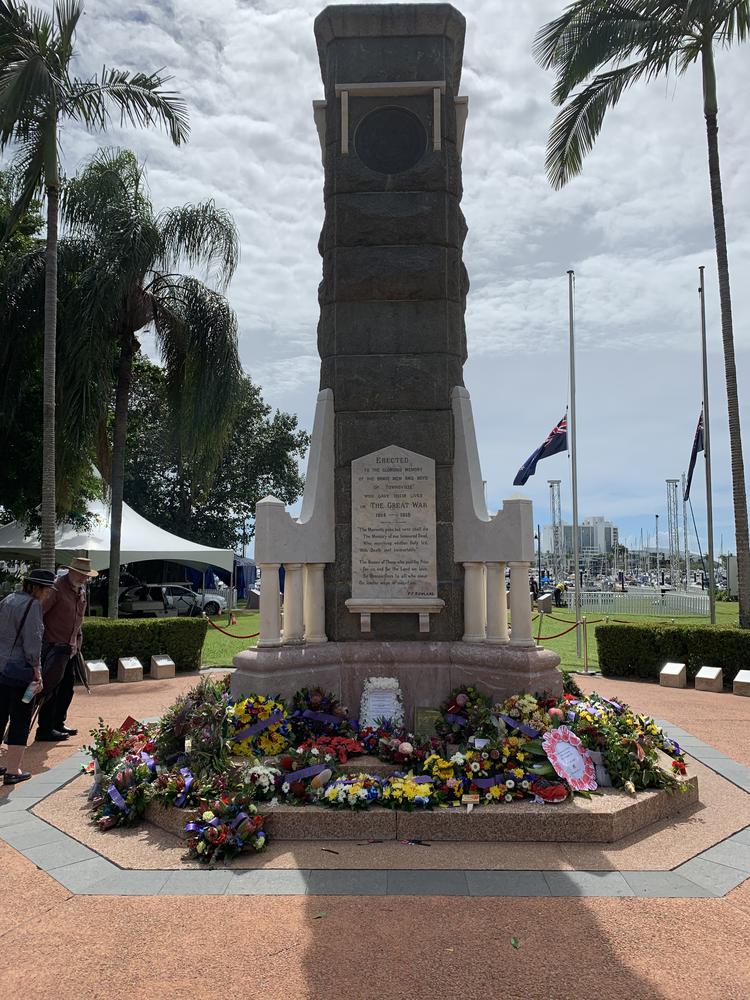
[[(301, 513), (257, 506), (257, 647), (156, 723), (100, 720), (94, 787), (70, 793), (98, 829), (80, 803), (69, 829), (104, 852), (103, 831), (144, 819), (162, 858), (186, 841), (192, 865), (253, 867), (270, 839), (317, 869), (339, 854), (326, 841), (429, 838), (525, 842), (528, 869), (538, 842), (588, 845), (598, 869), (595, 845), (621, 842), (627, 866), (651, 827), (677, 865), (670, 824), (698, 776), (654, 719), (563, 682), (532, 638), (531, 504), (485, 505), (463, 384), (464, 18), (334, 6), (315, 35), (321, 364)], [(113, 859), (135, 850), (117, 841)]]

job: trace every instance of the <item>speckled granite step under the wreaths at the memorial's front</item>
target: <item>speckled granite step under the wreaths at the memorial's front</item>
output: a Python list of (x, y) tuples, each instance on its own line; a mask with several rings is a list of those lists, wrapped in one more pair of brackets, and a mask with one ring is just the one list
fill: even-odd
[[(374, 807), (365, 810), (328, 806), (258, 804), (274, 841), (462, 841), (495, 843), (611, 844), (659, 820), (670, 819), (698, 801), (698, 779), (682, 782), (682, 791), (626, 792), (604, 789), (591, 799), (576, 798), (560, 805), (536, 805), (530, 800), (507, 805), (438, 807), (404, 812)], [(146, 819), (183, 837), (192, 810), (169, 809), (151, 802)]]

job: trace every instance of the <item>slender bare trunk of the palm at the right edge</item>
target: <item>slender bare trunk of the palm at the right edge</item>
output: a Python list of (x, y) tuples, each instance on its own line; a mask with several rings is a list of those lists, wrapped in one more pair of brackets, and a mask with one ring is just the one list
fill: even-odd
[(719, 126), (716, 100), (716, 71), (713, 50), (704, 47), (703, 104), (708, 139), (708, 176), (711, 182), (711, 208), (716, 240), (716, 264), (719, 272), (719, 303), (721, 307), (721, 339), (724, 345), (724, 377), (727, 387), (729, 414), (729, 450), (732, 463), (732, 497), (734, 500), (734, 530), (737, 543), (737, 589), (739, 593), (740, 627), (750, 628), (750, 538), (748, 537), (745, 463), (742, 457), (740, 404), (737, 394), (737, 368), (734, 360), (732, 299), (729, 290), (729, 257), (724, 223), (724, 199), (721, 192), (719, 167)]

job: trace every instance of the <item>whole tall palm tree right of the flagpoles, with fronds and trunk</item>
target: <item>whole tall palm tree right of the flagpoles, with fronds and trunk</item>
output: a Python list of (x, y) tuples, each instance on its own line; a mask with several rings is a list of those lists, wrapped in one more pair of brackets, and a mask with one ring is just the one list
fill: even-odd
[[(599, 135), (605, 112), (617, 104), (628, 87), (670, 72), (681, 76), (700, 61), (719, 272), (742, 628), (750, 628), (750, 540), (719, 169), (714, 50), (743, 42), (748, 34), (750, 0), (577, 0), (559, 18), (546, 24), (534, 42), (537, 61), (557, 73), (553, 103), (565, 105), (552, 123), (547, 144), (547, 176), (555, 188), (580, 173), (583, 157)], [(580, 84), (585, 86), (571, 97)]]

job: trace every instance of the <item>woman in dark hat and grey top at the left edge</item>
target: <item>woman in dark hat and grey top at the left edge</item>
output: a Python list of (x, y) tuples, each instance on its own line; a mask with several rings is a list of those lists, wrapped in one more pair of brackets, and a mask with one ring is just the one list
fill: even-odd
[[(8, 726), (3, 784), (15, 785), (31, 777), (21, 769), (31, 728), (34, 696), (25, 697), (35, 684), (41, 691), (42, 608), (52, 592), (55, 574), (35, 569), (23, 581), (20, 593), (0, 601), (0, 740)], [(33, 690), (33, 689), (32, 689)]]

